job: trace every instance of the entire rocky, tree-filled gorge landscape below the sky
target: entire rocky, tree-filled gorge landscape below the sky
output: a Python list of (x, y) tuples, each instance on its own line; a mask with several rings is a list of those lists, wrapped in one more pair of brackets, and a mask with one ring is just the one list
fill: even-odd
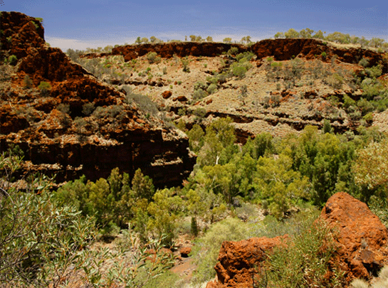
[(65, 54), (40, 18), (0, 17), (1, 287), (388, 281), (387, 53)]

